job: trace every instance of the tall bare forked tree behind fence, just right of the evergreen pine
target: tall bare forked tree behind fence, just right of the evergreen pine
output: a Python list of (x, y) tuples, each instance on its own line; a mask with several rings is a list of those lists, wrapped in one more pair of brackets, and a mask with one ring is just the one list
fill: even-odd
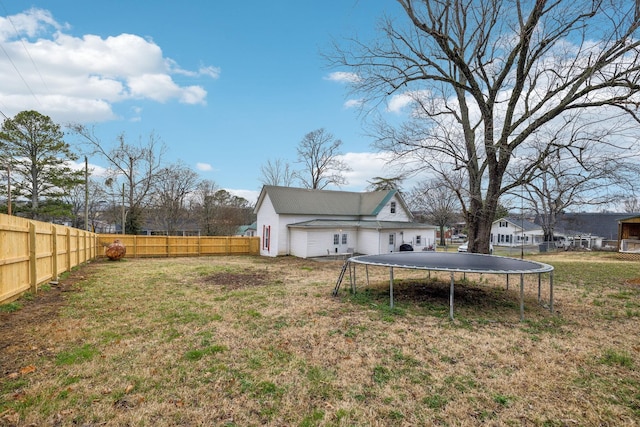
[(151, 202), (151, 190), (160, 177), (166, 147), (151, 133), (146, 142), (140, 140), (135, 145), (126, 142), (121, 134), (118, 144), (107, 148), (93, 130), (82, 125), (71, 127), (109, 162), (109, 177), (105, 184), (112, 195), (119, 194), (122, 198), (125, 231), (137, 234), (142, 227), (144, 209)]

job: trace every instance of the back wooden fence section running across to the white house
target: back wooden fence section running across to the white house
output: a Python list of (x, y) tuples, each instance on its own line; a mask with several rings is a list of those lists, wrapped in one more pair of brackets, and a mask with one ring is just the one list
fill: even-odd
[(98, 244), (105, 248), (115, 240), (126, 246), (125, 257), (132, 258), (260, 254), (259, 237), (98, 235)]

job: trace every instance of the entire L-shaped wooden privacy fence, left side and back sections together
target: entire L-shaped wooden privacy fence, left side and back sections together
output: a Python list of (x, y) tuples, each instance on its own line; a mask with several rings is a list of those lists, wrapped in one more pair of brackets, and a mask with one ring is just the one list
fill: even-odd
[(55, 281), (120, 240), (126, 257), (258, 255), (258, 237), (135, 236), (95, 234), (77, 228), (0, 214), (0, 304)]

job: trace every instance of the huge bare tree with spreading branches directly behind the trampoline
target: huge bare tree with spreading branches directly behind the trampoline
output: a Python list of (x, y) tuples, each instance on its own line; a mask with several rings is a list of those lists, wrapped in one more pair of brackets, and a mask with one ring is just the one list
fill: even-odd
[[(336, 46), (331, 60), (357, 75), (351, 82), (364, 105), (378, 101), (369, 113), (379, 101), (411, 108), (402, 125), (375, 123), (380, 149), (413, 171), (434, 164), (464, 171), (470, 251), (488, 253), (500, 197), (522, 184), (503, 182), (505, 173), (514, 153), (527, 151), (541, 130), (597, 122), (594, 128), (611, 131), (598, 142), (603, 151), (637, 155), (631, 149), (637, 138), (630, 135), (639, 121), (635, 2), (397, 3), (405, 20), (384, 20), (379, 40)], [(612, 142), (614, 132), (625, 131), (627, 138)], [(570, 143), (549, 142), (548, 151), (571, 149)], [(541, 160), (532, 158), (531, 167)]]

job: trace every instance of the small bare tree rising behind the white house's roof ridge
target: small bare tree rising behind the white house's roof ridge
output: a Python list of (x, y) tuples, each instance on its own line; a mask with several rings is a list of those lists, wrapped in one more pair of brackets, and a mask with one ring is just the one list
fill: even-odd
[(309, 132), (298, 144), (298, 162), (303, 168), (295, 176), (305, 188), (322, 190), (347, 183), (344, 172), (351, 168), (338, 158), (342, 141), (324, 129)]

